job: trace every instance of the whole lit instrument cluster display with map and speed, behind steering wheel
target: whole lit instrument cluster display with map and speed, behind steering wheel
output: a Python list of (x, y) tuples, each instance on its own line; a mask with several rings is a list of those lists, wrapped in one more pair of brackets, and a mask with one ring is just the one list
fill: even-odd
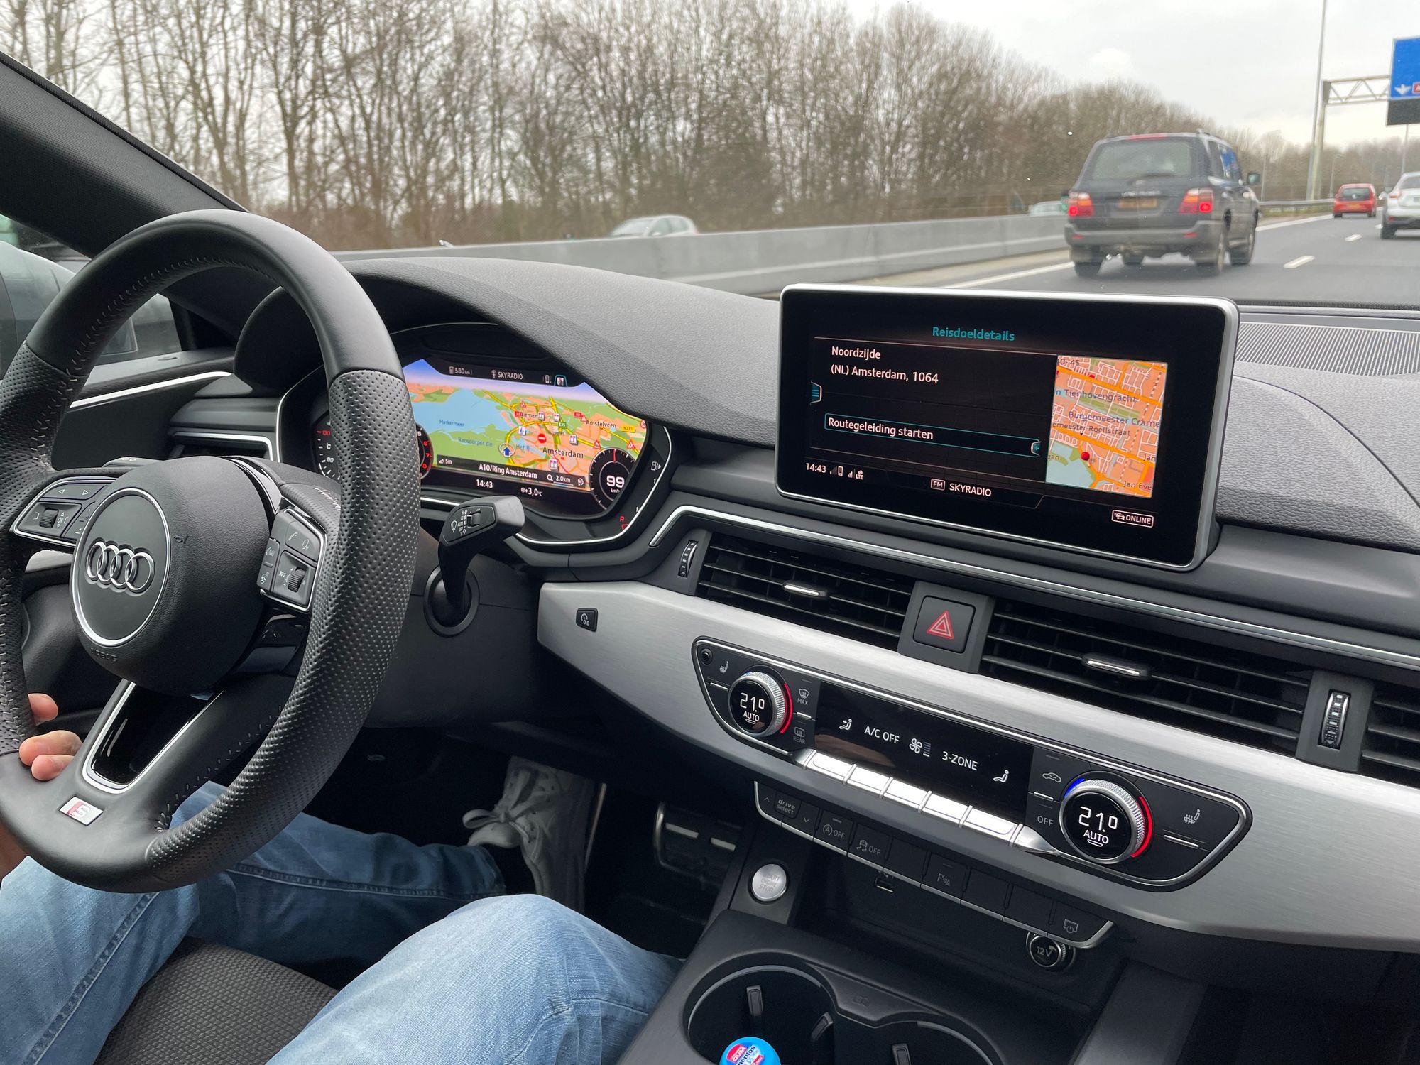
[[(429, 355), (405, 366), (429, 484), (507, 493), (557, 517), (605, 514), (630, 484), (646, 422), (562, 369)], [(337, 477), (329, 419), (312, 426), (321, 473)]]

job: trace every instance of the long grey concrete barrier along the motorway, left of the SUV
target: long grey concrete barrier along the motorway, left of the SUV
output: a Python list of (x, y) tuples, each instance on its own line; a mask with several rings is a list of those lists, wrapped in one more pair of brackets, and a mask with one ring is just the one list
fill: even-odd
[(545, 240), (527, 244), (341, 251), (337, 258), (518, 258), (596, 267), (758, 295), (775, 293), (794, 281), (861, 281), (1064, 248), (1064, 214), (1008, 214), (878, 226), (701, 233), (694, 237)]

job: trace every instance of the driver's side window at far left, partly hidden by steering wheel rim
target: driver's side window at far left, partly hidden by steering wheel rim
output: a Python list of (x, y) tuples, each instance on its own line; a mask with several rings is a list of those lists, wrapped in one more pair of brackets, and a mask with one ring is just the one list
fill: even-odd
[[(0, 368), (9, 366), (44, 308), (88, 260), (21, 222), (0, 214)], [(182, 351), (168, 300), (155, 295), (118, 331), (99, 364)]]

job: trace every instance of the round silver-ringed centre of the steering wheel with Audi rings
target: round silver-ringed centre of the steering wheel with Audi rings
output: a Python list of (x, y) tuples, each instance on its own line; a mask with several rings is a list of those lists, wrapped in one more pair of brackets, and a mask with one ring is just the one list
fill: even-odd
[[(43, 504), (72, 507), (81, 503)], [(148, 623), (168, 578), (168, 518), (139, 488), (105, 498), (75, 552), (70, 594), (82, 633), (99, 648), (131, 640)]]

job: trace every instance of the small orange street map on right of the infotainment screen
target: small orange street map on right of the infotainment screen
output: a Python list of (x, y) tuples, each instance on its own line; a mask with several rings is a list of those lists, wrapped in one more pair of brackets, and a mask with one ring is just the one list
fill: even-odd
[(1055, 359), (1048, 484), (1153, 496), (1166, 362)]

